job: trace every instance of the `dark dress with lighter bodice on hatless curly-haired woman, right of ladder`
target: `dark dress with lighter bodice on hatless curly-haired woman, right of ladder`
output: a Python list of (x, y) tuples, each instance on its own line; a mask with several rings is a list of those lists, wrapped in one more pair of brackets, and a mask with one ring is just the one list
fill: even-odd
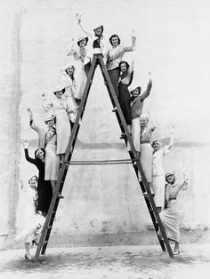
[(122, 109), (123, 115), (125, 117), (125, 122), (127, 125), (132, 124), (131, 117), (131, 106), (130, 106), (130, 92), (128, 86), (132, 83), (133, 71), (128, 69), (127, 75), (119, 76), (118, 91), (119, 91), (119, 105)]

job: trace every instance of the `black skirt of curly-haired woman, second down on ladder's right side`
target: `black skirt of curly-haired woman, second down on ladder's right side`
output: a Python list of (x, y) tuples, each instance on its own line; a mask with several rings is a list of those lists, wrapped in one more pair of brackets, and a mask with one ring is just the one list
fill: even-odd
[(125, 117), (125, 122), (127, 125), (132, 124), (131, 118), (131, 106), (130, 106), (130, 92), (128, 91), (127, 84), (119, 84), (119, 105), (122, 109), (123, 115)]

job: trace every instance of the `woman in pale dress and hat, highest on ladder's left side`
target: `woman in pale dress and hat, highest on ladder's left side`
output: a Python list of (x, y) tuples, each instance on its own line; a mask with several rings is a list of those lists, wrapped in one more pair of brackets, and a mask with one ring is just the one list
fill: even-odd
[[(72, 43), (73, 42), (74, 41), (72, 40)], [(88, 42), (88, 36), (80, 36), (77, 40), (77, 44), (73, 43), (70, 47), (70, 50), (67, 53), (68, 56), (72, 55), (75, 60), (74, 79), (75, 79), (75, 83), (77, 84), (77, 90), (73, 89), (74, 90), (73, 96), (77, 99), (78, 105), (80, 103), (80, 100), (83, 97), (86, 79), (87, 79), (85, 73), (85, 66), (84, 66), (84, 60), (86, 56), (85, 46), (87, 42)]]

